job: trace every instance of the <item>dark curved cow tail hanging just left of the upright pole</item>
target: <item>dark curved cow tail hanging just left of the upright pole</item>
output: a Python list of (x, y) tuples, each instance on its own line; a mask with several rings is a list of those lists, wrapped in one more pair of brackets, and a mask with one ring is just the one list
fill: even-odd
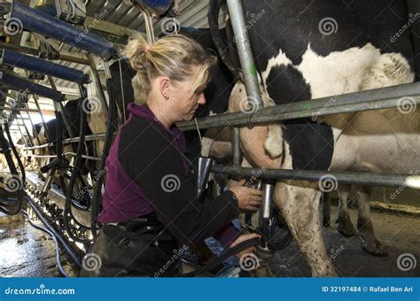
[(236, 64), (229, 56), (228, 42), (224, 41), (219, 30), (219, 12), (222, 9), (222, 4), (225, 0), (210, 0), (208, 8), (208, 24), (210, 32), (212, 33), (214, 45), (216, 46), (219, 56), (222, 58), (223, 63), (229, 68), (235, 79), (240, 78), (241, 72), (237, 69)]

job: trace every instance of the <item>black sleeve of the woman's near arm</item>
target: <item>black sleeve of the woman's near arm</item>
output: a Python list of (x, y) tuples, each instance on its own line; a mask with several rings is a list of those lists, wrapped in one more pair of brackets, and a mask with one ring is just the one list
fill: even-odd
[(183, 158), (164, 131), (147, 120), (128, 122), (121, 129), (119, 160), (175, 239), (197, 243), (237, 218), (237, 199), (228, 190), (211, 202), (198, 202)]

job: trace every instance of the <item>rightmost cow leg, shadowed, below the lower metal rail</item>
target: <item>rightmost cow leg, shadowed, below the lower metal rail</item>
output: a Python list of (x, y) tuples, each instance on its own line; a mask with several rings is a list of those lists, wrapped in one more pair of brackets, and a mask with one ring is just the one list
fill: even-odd
[(362, 249), (374, 256), (387, 256), (384, 246), (377, 241), (370, 219), (369, 197), (371, 188), (368, 186), (358, 187), (357, 197), (359, 203), (359, 216), (357, 218), (357, 229), (361, 237)]

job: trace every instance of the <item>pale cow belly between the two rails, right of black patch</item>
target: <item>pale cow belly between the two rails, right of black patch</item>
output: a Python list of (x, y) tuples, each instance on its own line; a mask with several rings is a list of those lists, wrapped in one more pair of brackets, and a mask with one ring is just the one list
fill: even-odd
[(419, 112), (410, 115), (397, 110), (359, 113), (335, 145), (331, 170), (390, 174), (420, 170)]

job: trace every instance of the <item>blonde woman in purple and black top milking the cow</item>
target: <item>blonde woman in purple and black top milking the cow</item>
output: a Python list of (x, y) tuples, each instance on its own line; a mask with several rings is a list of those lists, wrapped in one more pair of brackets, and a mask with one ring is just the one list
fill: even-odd
[(191, 120), (198, 105), (206, 103), (203, 91), (214, 58), (183, 35), (168, 35), (153, 45), (139, 37), (128, 42), (125, 52), (145, 104), (139, 104), (141, 99), (128, 104), (129, 118), (106, 160), (98, 218), (104, 227), (90, 251), (101, 265), (84, 266), (81, 275), (180, 275), (183, 245), (214, 236), (229, 248), (258, 236), (240, 235), (231, 220), (239, 211), (256, 210), (261, 191), (241, 182), (214, 200), (196, 198), (175, 122)]

